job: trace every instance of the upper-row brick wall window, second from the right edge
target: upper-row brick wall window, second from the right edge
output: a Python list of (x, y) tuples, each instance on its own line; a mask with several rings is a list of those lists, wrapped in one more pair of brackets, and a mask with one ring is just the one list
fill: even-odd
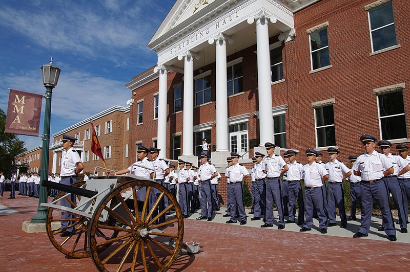
[(309, 39), (311, 43), (312, 70), (330, 65), (327, 28), (312, 32)]

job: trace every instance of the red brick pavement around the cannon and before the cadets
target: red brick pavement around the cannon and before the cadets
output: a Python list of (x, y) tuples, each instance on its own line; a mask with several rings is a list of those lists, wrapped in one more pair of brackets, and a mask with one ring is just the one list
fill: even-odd
[[(8, 208), (0, 206), (2, 271), (96, 270), (90, 258), (71, 259), (60, 254), (46, 233), (22, 231), (23, 221), (36, 214), (37, 198), (8, 197), (9, 192), (0, 197), (0, 205)], [(347, 229), (334, 226), (327, 234), (317, 229), (300, 233), (296, 224), (286, 224), (280, 231), (276, 226), (261, 229), (262, 222), (250, 221), (250, 217), (246, 225), (226, 224), (229, 218), (222, 214), (218, 212), (211, 222), (195, 220), (198, 214), (185, 219), (183, 240), (199, 242), (203, 247), (198, 254), (180, 255), (171, 271), (404, 271), (410, 265), (410, 234), (397, 232), (398, 241), (388, 241), (384, 233), (377, 232), (381, 221), (376, 217), (368, 239), (363, 239), (351, 238), (359, 222), (349, 223)]]

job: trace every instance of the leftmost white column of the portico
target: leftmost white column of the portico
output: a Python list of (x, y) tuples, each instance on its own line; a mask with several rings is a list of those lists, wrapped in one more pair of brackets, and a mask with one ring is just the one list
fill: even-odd
[(161, 149), (159, 157), (166, 158), (168, 71), (166, 67), (161, 64), (155, 67), (154, 72), (159, 72), (157, 147)]

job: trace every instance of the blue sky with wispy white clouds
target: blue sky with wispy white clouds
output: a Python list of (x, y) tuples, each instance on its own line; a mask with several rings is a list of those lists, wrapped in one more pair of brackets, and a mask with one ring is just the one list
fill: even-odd
[[(53, 89), (50, 134), (114, 105), (127, 106), (124, 84), (157, 62), (147, 48), (175, 1), (0, 0), (0, 108), (8, 88), (44, 94), (40, 67), (61, 69)], [(40, 134), (43, 133), (43, 99)], [(18, 136), (27, 149), (39, 137)]]

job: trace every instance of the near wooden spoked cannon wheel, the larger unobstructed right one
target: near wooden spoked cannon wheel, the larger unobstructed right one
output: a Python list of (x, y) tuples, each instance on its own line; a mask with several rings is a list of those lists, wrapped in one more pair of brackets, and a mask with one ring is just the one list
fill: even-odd
[[(156, 196), (151, 204), (150, 194)], [(127, 195), (132, 197), (127, 199)], [(169, 206), (159, 212), (157, 208), (165, 197)], [(166, 216), (165, 222), (158, 222), (172, 210), (175, 212)], [(116, 218), (115, 226), (98, 221), (103, 211)], [(118, 235), (104, 240), (98, 237), (98, 229)], [(178, 256), (182, 238), (183, 216), (175, 197), (165, 187), (147, 180), (131, 180), (116, 187), (100, 202), (90, 221), (90, 253), (100, 271), (166, 271)], [(99, 250), (107, 244), (104, 251)]]

